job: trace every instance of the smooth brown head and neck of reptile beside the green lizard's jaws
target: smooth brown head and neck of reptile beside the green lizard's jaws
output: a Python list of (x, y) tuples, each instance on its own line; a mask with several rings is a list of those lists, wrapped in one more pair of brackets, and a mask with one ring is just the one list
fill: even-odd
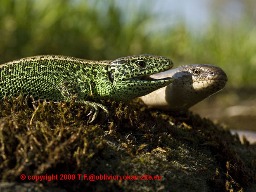
[(164, 110), (188, 109), (222, 90), (228, 81), (220, 67), (209, 64), (180, 66), (150, 77), (174, 78), (174, 82), (166, 87), (140, 97), (144, 104)]

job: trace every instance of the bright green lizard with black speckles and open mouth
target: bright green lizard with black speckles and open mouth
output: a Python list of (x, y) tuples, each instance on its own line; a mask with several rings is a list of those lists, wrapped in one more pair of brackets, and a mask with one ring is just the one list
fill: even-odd
[[(59, 55), (26, 57), (0, 65), (0, 100), (19, 94), (36, 99), (88, 104), (92, 121), (99, 100), (132, 100), (162, 88), (173, 78), (153, 79), (149, 75), (173, 66), (170, 59), (154, 55), (134, 55), (113, 61), (90, 61)], [(147, 79), (147, 80), (144, 80)], [(106, 118), (107, 118), (106, 117)]]

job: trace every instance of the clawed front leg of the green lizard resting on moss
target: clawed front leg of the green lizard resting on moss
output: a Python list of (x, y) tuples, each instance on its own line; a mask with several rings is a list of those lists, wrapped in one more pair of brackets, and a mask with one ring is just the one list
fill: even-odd
[(84, 99), (85, 94), (83, 92), (81, 92), (81, 90), (79, 90), (78, 87), (76, 87), (76, 85), (73, 85), (72, 83), (70, 83), (68, 81), (62, 82), (59, 84), (59, 91), (61, 92), (65, 101), (71, 102), (71, 98), (73, 97), (73, 95), (76, 95), (76, 100), (75, 100), (76, 102), (89, 105), (90, 112), (88, 115), (90, 115), (94, 112), (94, 114), (92, 115), (92, 120), (89, 123), (91, 123), (92, 121), (94, 121), (96, 119), (96, 117), (99, 113), (99, 107), (105, 111), (106, 119), (108, 118), (109, 111), (108, 111), (107, 107), (105, 107), (102, 104), (96, 103), (96, 102), (86, 101)]

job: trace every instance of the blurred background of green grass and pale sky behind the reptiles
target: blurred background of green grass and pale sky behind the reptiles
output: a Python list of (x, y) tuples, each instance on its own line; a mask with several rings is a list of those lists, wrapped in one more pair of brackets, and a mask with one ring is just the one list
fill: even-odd
[(237, 17), (234, 9), (225, 20), (232, 1), (209, 1), (207, 25), (193, 26), (174, 17), (175, 1), (0, 0), (0, 63), (46, 54), (91, 60), (152, 54), (171, 58), (174, 67), (213, 64), (227, 73), (228, 84), (192, 110), (229, 119), (232, 128), (256, 130), (256, 2), (233, 1), (242, 11)]

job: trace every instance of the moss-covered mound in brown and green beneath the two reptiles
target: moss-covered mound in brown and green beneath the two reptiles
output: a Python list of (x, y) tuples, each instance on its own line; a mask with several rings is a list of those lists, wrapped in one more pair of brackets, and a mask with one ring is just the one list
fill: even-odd
[[(161, 180), (52, 180), (67, 191), (239, 191), (255, 186), (256, 146), (189, 111), (102, 102), (88, 124), (88, 107), (36, 103), (22, 96), (0, 103), (0, 179), (21, 174), (158, 175)], [(29, 105), (31, 106), (31, 105)], [(216, 171), (217, 170), (217, 171)], [(30, 180), (31, 181), (31, 180)]]

